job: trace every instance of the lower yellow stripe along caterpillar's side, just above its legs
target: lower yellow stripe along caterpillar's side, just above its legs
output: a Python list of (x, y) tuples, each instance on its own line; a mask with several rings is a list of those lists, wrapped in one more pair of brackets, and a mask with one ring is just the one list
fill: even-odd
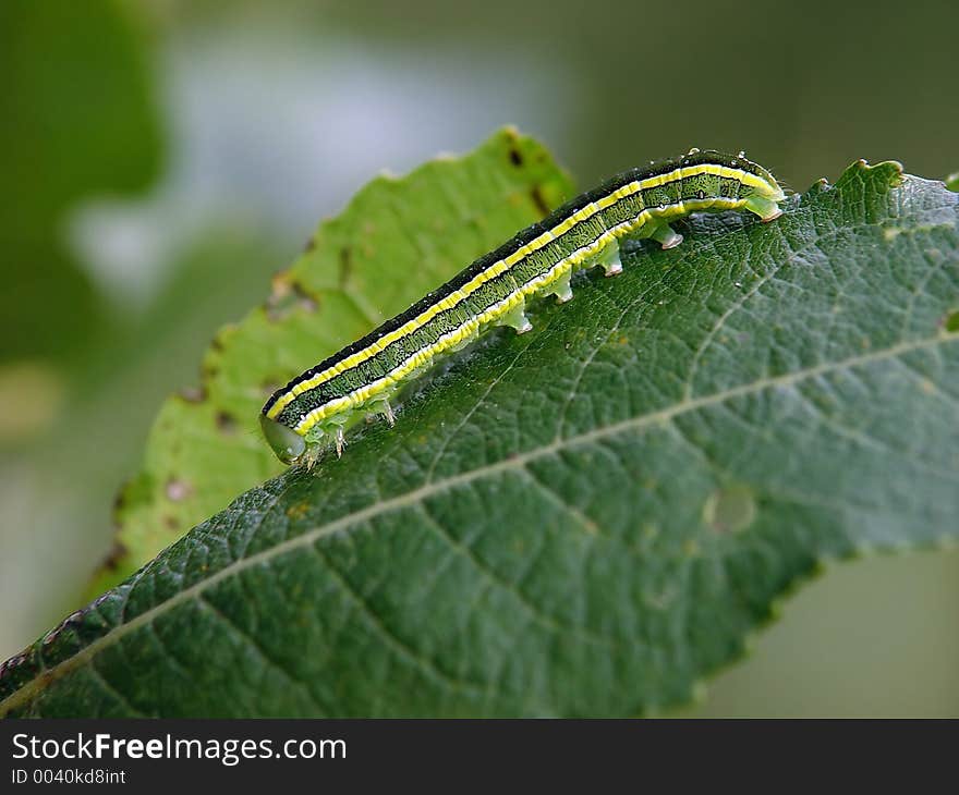
[[(709, 198), (702, 200), (690, 200), (687, 204), (701, 205), (703, 207), (714, 207), (717, 204), (720, 204), (725, 205), (726, 209), (733, 210), (742, 207), (744, 201), (742, 199)], [(691, 211), (695, 211), (695, 209), (696, 208), (693, 207)], [(402, 381), (405, 376), (415, 370), (417, 367), (422, 366), (424, 363), (428, 362), (430, 358), (435, 357), (437, 354), (442, 353), (450, 347), (453, 347), (459, 342), (462, 342), (463, 340), (471, 337), (484, 323), (490, 322), (491, 320), (495, 320), (498, 316), (506, 314), (506, 311), (515, 306), (515, 304), (518, 304), (521, 298), (525, 298), (526, 296), (532, 295), (546, 284), (557, 281), (566, 273), (567, 270), (574, 268), (583, 260), (588, 259), (595, 254), (598, 254), (599, 250), (602, 250), (607, 243), (610, 243), (618, 235), (626, 234), (629, 231), (628, 228), (635, 228), (644, 223), (645, 220), (651, 217), (651, 210), (643, 210), (636, 217), (636, 219), (624, 221), (623, 223), (620, 223), (612, 229), (607, 230), (591, 244), (579, 248), (578, 250), (573, 252), (569, 257), (561, 259), (546, 273), (542, 273), (536, 278), (530, 280), (522, 286), (518, 288), (507, 297), (490, 306), (480, 316), (475, 318), (470, 318), (459, 328), (447, 332), (446, 334), (437, 339), (436, 342), (417, 351), (412, 356), (410, 356), (410, 358), (408, 358), (405, 362), (402, 362), (399, 366), (385, 375), (383, 378), (379, 378), (376, 381), (372, 381), (368, 384), (364, 384), (363, 387), (357, 387), (352, 392), (349, 392), (348, 394), (344, 394), (340, 397), (335, 397), (328, 403), (325, 403), (321, 406), (317, 406), (307, 414), (304, 414), (296, 426), (293, 428), (293, 430), (296, 431), (296, 433), (299, 433), (300, 436), (304, 436), (317, 423), (326, 419), (327, 417), (339, 414), (340, 412), (343, 412), (348, 408), (362, 405), (368, 400), (375, 397), (376, 395), (381, 394), (392, 384)]]

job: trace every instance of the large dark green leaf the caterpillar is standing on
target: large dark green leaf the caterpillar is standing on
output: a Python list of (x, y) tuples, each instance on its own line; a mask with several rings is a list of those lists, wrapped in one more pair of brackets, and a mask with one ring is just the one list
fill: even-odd
[(9, 662), (0, 714), (650, 713), (825, 562), (955, 541), (959, 197), (859, 162), (785, 209), (580, 274)]

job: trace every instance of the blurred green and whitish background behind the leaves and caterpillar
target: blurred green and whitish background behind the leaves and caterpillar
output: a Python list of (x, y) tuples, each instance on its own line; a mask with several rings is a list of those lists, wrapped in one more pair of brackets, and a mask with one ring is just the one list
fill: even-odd
[[(3, 0), (0, 659), (77, 607), (215, 329), (376, 172), (506, 123), (583, 187), (693, 145), (799, 191), (957, 170), (959, 7), (857, 7)], [(957, 715), (957, 608), (956, 551), (837, 566), (683, 713)]]

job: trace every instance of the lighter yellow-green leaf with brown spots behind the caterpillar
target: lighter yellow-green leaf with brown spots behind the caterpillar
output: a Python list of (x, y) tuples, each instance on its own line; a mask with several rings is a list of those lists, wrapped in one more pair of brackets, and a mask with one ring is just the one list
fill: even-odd
[(282, 469), (260, 438), (270, 393), (402, 311), (569, 197), (537, 142), (507, 129), (464, 158), (379, 176), (320, 224), (266, 305), (221, 330), (199, 390), (169, 399), (118, 499), (114, 552), (90, 598), (125, 579), (238, 493)]

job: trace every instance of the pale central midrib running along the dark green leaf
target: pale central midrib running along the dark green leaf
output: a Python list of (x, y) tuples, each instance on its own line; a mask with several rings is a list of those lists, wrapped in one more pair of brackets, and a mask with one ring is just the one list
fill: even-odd
[[(106, 648), (113, 643), (117, 643), (126, 634), (139, 628), (141, 626), (149, 624), (158, 615), (162, 615), (163, 613), (172, 610), (177, 606), (186, 602), (195, 597), (199, 597), (201, 595), (203, 595), (204, 591), (217, 585), (221, 580), (239, 574), (240, 572), (243, 572), (251, 566), (255, 566), (259, 563), (270, 561), (274, 558), (286, 554), (287, 552), (290, 552), (292, 550), (299, 549), (301, 547), (311, 546), (318, 539), (329, 536), (339, 530), (347, 529), (353, 525), (362, 524), (367, 519), (372, 519), (376, 516), (389, 513), (394, 510), (406, 507), (412, 504), (418, 504), (434, 494), (454, 489), (459, 486), (473, 482), (474, 480), (478, 480), (484, 477), (495, 476), (499, 473), (515, 470), (521, 467), (525, 467), (529, 463), (533, 461), (547, 457), (568, 448), (579, 447), (581, 444), (588, 444), (593, 441), (610, 436), (616, 436), (617, 433), (627, 430), (645, 428), (652, 425), (656, 425), (658, 423), (668, 423), (677, 416), (689, 414), (691, 412), (695, 412), (713, 405), (718, 405), (736, 397), (755, 394), (765, 389), (789, 387), (803, 380), (815, 378), (822, 375), (827, 375), (829, 372), (851, 369), (862, 365), (897, 358), (903, 354), (911, 353), (913, 351), (935, 347), (938, 345), (955, 344), (956, 342), (959, 342), (959, 338), (944, 337), (942, 334), (937, 334), (935, 337), (924, 338), (912, 342), (900, 342), (886, 348), (881, 348), (866, 354), (852, 356), (846, 359), (841, 359), (839, 362), (815, 365), (813, 367), (803, 368), (793, 372), (787, 372), (770, 378), (761, 378), (750, 383), (740, 384), (738, 387), (721, 390), (719, 392), (714, 392), (712, 394), (703, 395), (701, 397), (681, 400), (672, 406), (660, 408), (647, 414), (642, 414), (636, 417), (630, 417), (612, 425), (603, 426), (600, 428), (593, 428), (592, 430), (584, 431), (583, 433), (557, 439), (549, 444), (530, 450), (525, 453), (519, 453), (502, 461), (493, 464), (486, 464), (484, 466), (476, 467), (475, 469), (470, 469), (469, 472), (452, 475), (441, 480), (427, 481), (423, 486), (412, 491), (408, 491), (403, 494), (390, 498), (388, 500), (376, 502), (360, 511), (341, 516), (325, 525), (315, 527), (312, 530), (307, 530), (296, 536), (295, 538), (281, 541), (280, 543), (277, 543), (269, 549), (265, 549), (262, 552), (257, 552), (254, 555), (242, 558), (232, 563), (229, 563), (219, 572), (216, 572), (209, 577), (202, 579), (193, 584), (189, 588), (179, 591), (166, 601), (131, 619), (129, 622), (117, 625), (72, 657), (66, 658), (65, 660), (59, 662), (52, 668), (45, 669), (43, 671), (43, 675), (35, 676), (15, 693), (11, 694), (5, 700), (0, 701), (0, 717), (4, 715), (11, 709), (15, 709), (21, 704), (27, 701), (38, 689), (40, 689), (41, 686), (47, 686), (51, 682), (61, 678), (71, 671), (81, 666), (102, 648)], [(282, 492), (277, 494), (275, 500), (279, 499), (281, 494)]]

